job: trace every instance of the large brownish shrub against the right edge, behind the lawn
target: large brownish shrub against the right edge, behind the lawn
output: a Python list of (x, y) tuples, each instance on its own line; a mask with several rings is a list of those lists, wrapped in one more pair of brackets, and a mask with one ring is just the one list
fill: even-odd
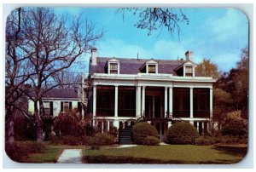
[(246, 136), (247, 121), (241, 118), (241, 111), (230, 112), (224, 118), (221, 132), (223, 135)]

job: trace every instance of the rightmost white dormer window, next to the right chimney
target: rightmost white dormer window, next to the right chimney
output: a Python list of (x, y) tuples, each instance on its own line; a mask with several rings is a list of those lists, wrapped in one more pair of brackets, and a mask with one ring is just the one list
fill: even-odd
[(192, 61), (185, 61), (181, 66), (178, 66), (175, 71), (180, 77), (195, 77), (195, 63)]

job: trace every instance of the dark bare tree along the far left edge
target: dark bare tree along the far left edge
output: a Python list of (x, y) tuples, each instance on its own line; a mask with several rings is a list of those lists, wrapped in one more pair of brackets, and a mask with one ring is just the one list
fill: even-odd
[(20, 44), (24, 41), (21, 29), (21, 13), (22, 9), (15, 9), (9, 14), (6, 22), (5, 129), (6, 139), (10, 145), (15, 140), (15, 110), (20, 109), (22, 102), (24, 102), (20, 97), (22, 97), (24, 91), (29, 89), (26, 82), (33, 73), (28, 66), (29, 56), (20, 52)]

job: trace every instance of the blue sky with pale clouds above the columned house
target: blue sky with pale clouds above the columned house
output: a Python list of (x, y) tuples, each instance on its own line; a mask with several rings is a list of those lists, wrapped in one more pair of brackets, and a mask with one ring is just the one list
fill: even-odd
[[(177, 34), (171, 36), (165, 29), (148, 37), (148, 31), (134, 26), (137, 16), (125, 13), (123, 19), (122, 14), (116, 14), (116, 9), (55, 8), (55, 12), (71, 15), (83, 12), (87, 20), (96, 23), (98, 30), (103, 27), (106, 33), (96, 44), (98, 55), (103, 57), (137, 58), (138, 53), (142, 59), (177, 60), (192, 50), (195, 63), (203, 58), (211, 59), (221, 71), (228, 72), (236, 67), (241, 49), (248, 45), (248, 20), (239, 9), (183, 9), (189, 25), (180, 25), (179, 39)], [(87, 54), (86, 64), (89, 57)]]

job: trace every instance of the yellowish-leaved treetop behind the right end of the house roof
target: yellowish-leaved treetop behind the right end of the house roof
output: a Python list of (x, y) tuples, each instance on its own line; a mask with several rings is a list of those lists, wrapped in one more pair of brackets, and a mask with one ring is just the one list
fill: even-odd
[(195, 68), (196, 72), (201, 73), (204, 77), (218, 78), (218, 65), (213, 63), (210, 59), (203, 59)]

